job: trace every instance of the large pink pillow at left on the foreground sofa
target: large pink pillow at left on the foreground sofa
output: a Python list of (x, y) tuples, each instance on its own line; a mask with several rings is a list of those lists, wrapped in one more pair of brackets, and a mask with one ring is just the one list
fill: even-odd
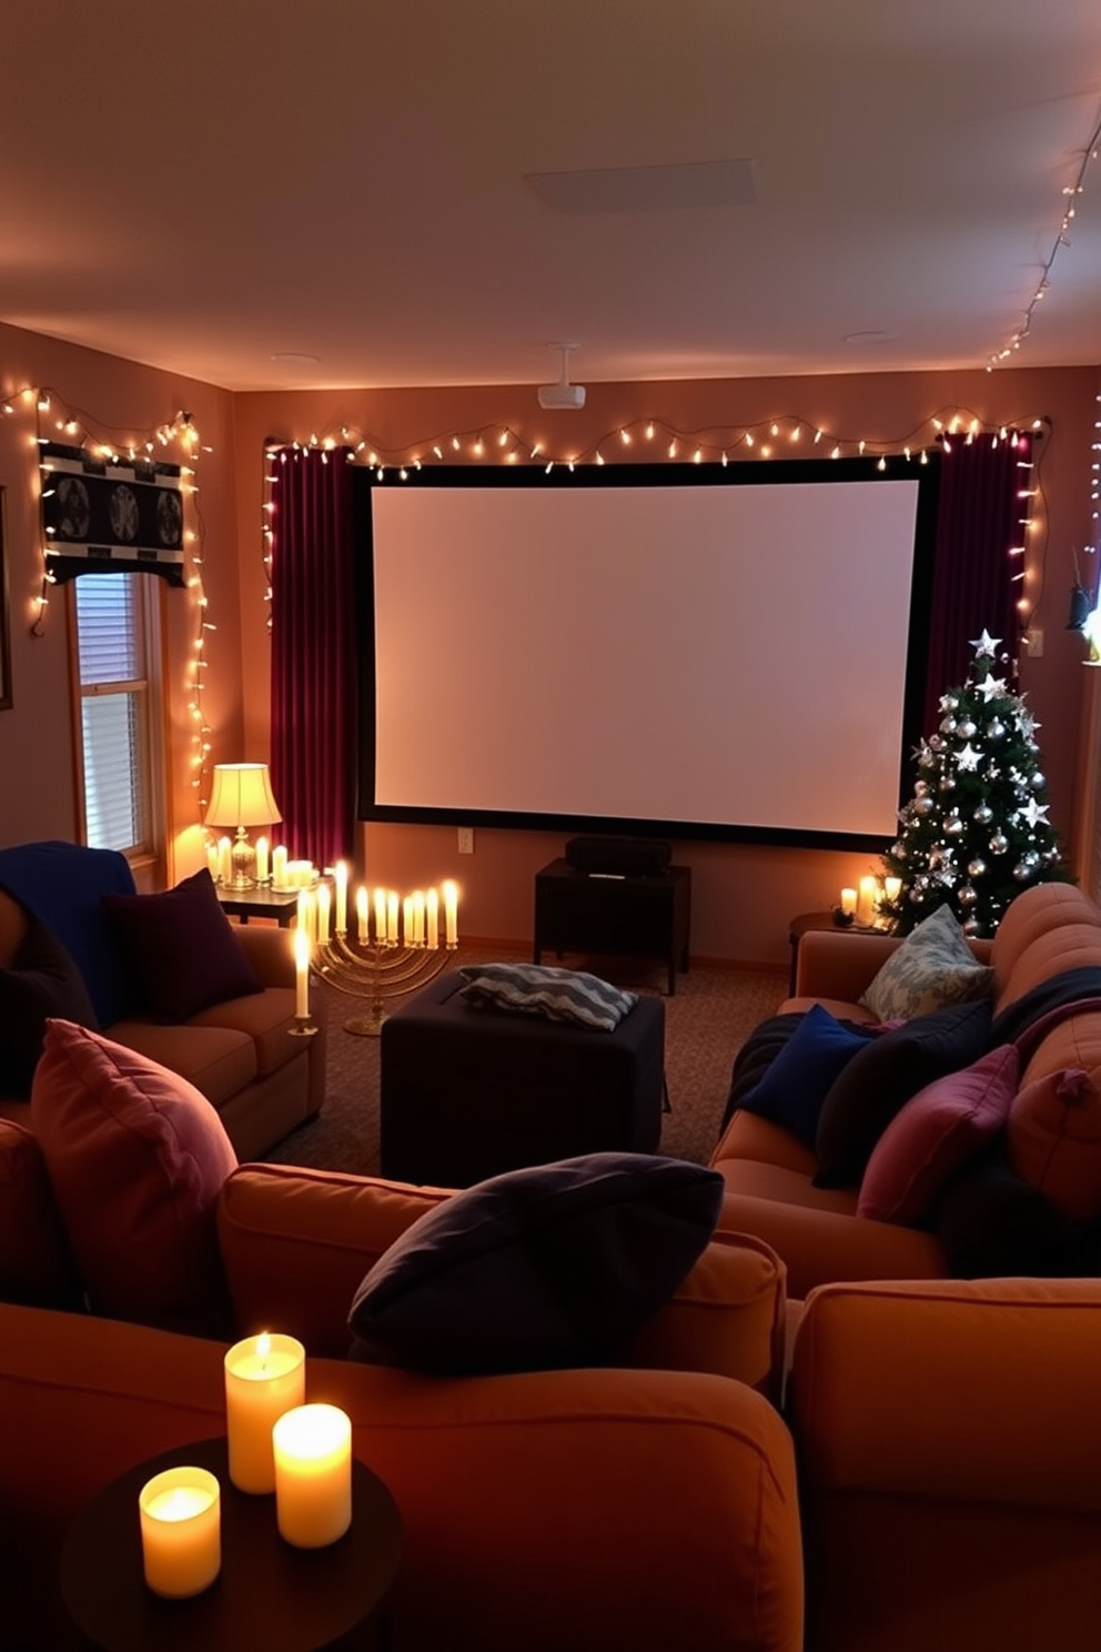
[(215, 1201), (236, 1153), (210, 1102), (145, 1056), (48, 1021), (31, 1125), (94, 1312), (220, 1335)]

